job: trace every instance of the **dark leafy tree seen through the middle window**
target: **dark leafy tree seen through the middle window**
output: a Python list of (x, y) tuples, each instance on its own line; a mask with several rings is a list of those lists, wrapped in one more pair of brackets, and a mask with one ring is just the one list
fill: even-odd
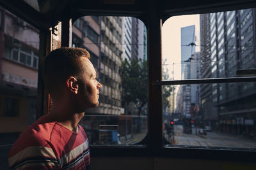
[(122, 106), (134, 103), (141, 115), (142, 108), (148, 101), (147, 60), (132, 59), (122, 61)]

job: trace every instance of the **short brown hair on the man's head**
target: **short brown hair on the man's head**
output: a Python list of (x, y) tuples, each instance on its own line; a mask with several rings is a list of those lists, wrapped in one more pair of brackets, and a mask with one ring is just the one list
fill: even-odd
[(61, 47), (53, 50), (43, 61), (43, 79), (52, 97), (58, 96), (61, 85), (69, 76), (79, 78), (84, 67), (79, 58), (90, 59), (90, 53), (84, 48)]

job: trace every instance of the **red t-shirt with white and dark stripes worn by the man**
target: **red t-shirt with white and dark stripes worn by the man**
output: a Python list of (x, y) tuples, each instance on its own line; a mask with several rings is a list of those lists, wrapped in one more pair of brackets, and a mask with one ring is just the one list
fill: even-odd
[(9, 153), (11, 169), (90, 169), (88, 139), (43, 116), (28, 127)]

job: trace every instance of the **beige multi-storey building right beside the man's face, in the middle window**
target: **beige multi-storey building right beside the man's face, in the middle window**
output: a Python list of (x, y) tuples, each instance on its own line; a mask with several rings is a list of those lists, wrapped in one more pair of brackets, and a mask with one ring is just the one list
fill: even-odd
[(124, 109), (121, 108), (120, 76), (122, 32), (121, 17), (86, 16), (78, 18), (73, 26), (73, 46), (86, 48), (90, 52), (90, 60), (102, 84), (99, 106), (86, 110), (86, 116), (81, 121), (81, 125), (88, 130), (92, 143), (111, 143), (113, 138), (109, 139), (108, 136), (113, 136), (115, 133), (117, 138), (117, 131), (120, 135), (124, 135), (124, 132), (120, 132), (122, 128), (106, 129), (106, 125), (109, 124), (119, 127), (124, 124), (124, 121), (118, 120), (120, 119), (118, 116), (111, 117), (124, 113)]

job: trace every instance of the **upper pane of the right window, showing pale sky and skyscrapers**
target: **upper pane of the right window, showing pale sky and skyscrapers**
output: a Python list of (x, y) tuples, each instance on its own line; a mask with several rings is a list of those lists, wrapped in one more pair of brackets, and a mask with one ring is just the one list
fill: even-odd
[[(238, 10), (223, 12), (225, 17), (221, 18), (206, 13), (166, 20), (162, 37), (163, 67), (170, 72), (168, 80), (236, 77), (237, 70), (256, 67), (252, 10), (244, 11), (243, 17)], [(246, 16), (251, 17), (246, 20)], [(240, 19), (230, 19), (236, 17)], [(239, 27), (244, 20), (246, 24)], [(223, 26), (212, 27), (215, 22)]]

